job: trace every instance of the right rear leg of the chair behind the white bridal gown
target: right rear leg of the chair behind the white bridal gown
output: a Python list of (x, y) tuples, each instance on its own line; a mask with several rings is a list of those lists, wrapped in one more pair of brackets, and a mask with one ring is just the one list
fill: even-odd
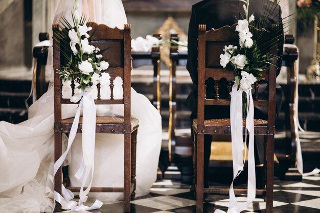
[(124, 134), (123, 209), (130, 212), (131, 197), (131, 133)]

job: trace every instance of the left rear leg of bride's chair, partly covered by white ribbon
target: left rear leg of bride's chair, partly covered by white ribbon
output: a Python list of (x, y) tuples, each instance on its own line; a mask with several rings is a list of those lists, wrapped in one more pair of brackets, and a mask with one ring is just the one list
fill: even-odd
[[(59, 157), (62, 155), (62, 133), (61, 132), (55, 132), (54, 136), (54, 156), (55, 156), (55, 162), (59, 159)], [(60, 167), (54, 177), (54, 187), (55, 191), (61, 195), (61, 185), (62, 185), (62, 167)], [(55, 209), (54, 211), (61, 211), (61, 204), (56, 201)]]

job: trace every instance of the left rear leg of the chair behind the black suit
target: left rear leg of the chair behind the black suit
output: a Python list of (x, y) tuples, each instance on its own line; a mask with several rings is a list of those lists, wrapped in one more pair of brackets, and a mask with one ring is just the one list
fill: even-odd
[(204, 149), (204, 135), (197, 134), (197, 213), (203, 212), (203, 150)]

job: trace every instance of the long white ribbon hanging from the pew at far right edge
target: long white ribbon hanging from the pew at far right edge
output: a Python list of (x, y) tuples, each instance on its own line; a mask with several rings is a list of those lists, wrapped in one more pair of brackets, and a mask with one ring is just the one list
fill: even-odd
[[(284, 44), (284, 48), (296, 48), (298, 51), (298, 59), (295, 61), (295, 97), (294, 97), (294, 110), (293, 110), (293, 116), (294, 116), (294, 128), (296, 132), (296, 168), (298, 168), (298, 171), (302, 176), (311, 176), (320, 173), (320, 170), (318, 168), (315, 168), (313, 171), (308, 173), (303, 173), (303, 158), (302, 158), (302, 150), (301, 150), (301, 141), (299, 137), (299, 130), (302, 132), (305, 132), (305, 130), (300, 126), (299, 122), (299, 111), (298, 111), (298, 104), (299, 104), (299, 49), (298, 46), (294, 44)], [(288, 75), (288, 73), (287, 73)]]

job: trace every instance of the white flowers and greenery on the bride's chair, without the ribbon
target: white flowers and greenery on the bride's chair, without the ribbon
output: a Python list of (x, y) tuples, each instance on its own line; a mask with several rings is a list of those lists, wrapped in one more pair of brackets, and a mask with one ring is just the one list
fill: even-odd
[(84, 91), (86, 88), (97, 84), (106, 84), (110, 78), (109, 74), (101, 71), (109, 68), (109, 63), (102, 60), (102, 53), (99, 48), (89, 44), (88, 32), (92, 27), (86, 25), (86, 18), (79, 15), (78, 1), (75, 1), (73, 8), (73, 25), (65, 18), (61, 25), (58, 25), (61, 46), (70, 48), (60, 48), (63, 57), (67, 60), (66, 65), (62, 65), (57, 70), (59, 77), (63, 81), (74, 81), (78, 84), (78, 89)]

